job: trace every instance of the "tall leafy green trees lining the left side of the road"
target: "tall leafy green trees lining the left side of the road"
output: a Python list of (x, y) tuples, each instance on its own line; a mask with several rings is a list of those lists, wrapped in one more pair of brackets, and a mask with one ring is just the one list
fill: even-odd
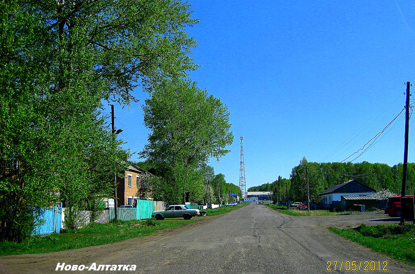
[(203, 168), (233, 136), (226, 105), (187, 78), (197, 22), (177, 0), (0, 1), (0, 240), (27, 238), (39, 208), (64, 202), (71, 220), (112, 197), (132, 153), (103, 102), (138, 102), (135, 88), (154, 194), (203, 198)]

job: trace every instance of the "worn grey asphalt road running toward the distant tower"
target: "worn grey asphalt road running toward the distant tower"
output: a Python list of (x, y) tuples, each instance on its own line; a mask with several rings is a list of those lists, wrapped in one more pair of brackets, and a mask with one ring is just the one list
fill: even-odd
[[(346, 216), (341, 217), (347, 221)], [(415, 267), (350, 242), (327, 229), (330, 218), (287, 216), (249, 204), (186, 227), (76, 250), (0, 257), (0, 273), (322, 274), (327, 261), (388, 261), (390, 274)], [(366, 216), (362, 217), (366, 218)], [(134, 271), (55, 271), (57, 263), (136, 264)], [(337, 269), (339, 266), (337, 266)], [(331, 271), (333, 273), (334, 271)], [(335, 271), (335, 273), (379, 273)]]

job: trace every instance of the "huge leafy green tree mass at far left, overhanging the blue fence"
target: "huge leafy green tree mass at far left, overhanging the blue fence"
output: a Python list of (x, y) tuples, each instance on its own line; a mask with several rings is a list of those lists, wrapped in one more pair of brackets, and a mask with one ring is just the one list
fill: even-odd
[(131, 154), (101, 102), (129, 104), (137, 85), (195, 69), (183, 29), (197, 20), (174, 0), (10, 0), (0, 11), (0, 240), (22, 241), (32, 208), (79, 211), (112, 195)]

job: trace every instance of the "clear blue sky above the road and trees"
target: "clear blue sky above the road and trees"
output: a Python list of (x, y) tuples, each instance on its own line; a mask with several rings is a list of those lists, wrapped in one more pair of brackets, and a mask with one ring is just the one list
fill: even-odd
[[(303, 156), (344, 160), (403, 109), (403, 83), (415, 84), (415, 4), (335, 2), (190, 1), (200, 23), (188, 32), (202, 65), (190, 77), (231, 113), (232, 152), (210, 163), (227, 182), (239, 184), (241, 135), (249, 188), (289, 178)], [(125, 147), (139, 151), (149, 133), (141, 110), (147, 94), (134, 95), (139, 103), (116, 106), (116, 126)], [(410, 124), (410, 162), (414, 132)], [(404, 113), (354, 162), (402, 162), (403, 135)]]

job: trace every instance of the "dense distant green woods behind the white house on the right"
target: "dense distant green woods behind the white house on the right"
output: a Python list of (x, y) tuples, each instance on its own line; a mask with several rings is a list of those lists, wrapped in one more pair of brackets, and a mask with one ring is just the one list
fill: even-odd
[[(273, 200), (278, 201), (306, 201), (307, 200), (307, 173), (310, 199), (320, 202), (319, 194), (336, 184), (356, 180), (362, 184), (381, 191), (389, 190), (400, 194), (402, 188), (403, 164), (392, 167), (381, 163), (370, 162), (308, 162), (304, 157), (299, 165), (291, 170), (290, 179), (278, 176), (272, 183), (250, 187), (248, 191), (273, 192)], [(415, 163), (408, 163), (406, 194), (415, 191)], [(288, 192), (288, 198), (287, 198)], [(278, 198), (277, 198), (278, 197)]]

